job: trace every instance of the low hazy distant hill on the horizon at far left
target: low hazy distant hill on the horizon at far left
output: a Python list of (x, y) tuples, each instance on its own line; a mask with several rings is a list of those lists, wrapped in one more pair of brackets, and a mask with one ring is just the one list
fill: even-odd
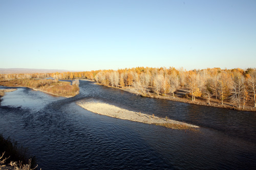
[(33, 74), (33, 73), (52, 73), (67, 72), (64, 69), (31, 69), (31, 68), (0, 68), (0, 74)]

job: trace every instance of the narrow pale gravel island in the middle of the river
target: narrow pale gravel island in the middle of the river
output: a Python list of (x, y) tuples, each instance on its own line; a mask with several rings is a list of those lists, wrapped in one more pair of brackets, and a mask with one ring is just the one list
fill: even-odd
[(148, 115), (140, 112), (129, 111), (129, 110), (122, 109), (106, 103), (100, 103), (100, 102), (94, 102), (94, 101), (79, 101), (77, 102), (77, 105), (97, 114), (106, 115), (106, 116), (115, 117), (115, 118), (124, 119), (124, 120), (131, 120), (133, 122), (140, 122), (144, 124), (154, 124), (154, 125), (171, 128), (171, 129), (196, 130), (195, 128), (199, 128), (198, 126), (178, 122), (176, 120), (172, 120), (167, 117), (161, 118), (161, 117), (155, 116), (154, 114)]

